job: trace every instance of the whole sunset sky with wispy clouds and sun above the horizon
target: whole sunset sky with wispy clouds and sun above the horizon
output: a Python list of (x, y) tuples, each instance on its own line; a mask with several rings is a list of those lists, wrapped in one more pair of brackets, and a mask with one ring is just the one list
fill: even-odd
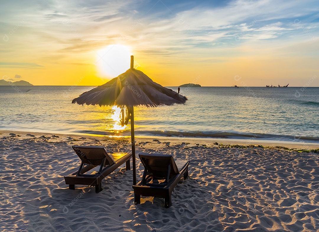
[(162, 86), (319, 86), (319, 2), (0, 2), (0, 79), (97, 86), (130, 55)]

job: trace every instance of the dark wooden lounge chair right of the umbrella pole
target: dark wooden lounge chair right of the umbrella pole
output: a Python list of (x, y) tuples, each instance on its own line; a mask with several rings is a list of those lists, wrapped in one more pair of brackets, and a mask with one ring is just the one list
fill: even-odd
[(164, 198), (165, 208), (172, 205), (171, 195), (174, 187), (188, 177), (187, 160), (174, 161), (173, 155), (139, 153), (145, 168), (142, 180), (133, 185), (134, 204), (140, 203), (141, 196)]

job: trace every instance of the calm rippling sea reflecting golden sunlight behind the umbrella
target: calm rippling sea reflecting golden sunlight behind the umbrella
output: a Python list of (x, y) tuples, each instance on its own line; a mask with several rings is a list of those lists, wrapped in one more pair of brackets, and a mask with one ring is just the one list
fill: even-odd
[[(130, 135), (116, 107), (71, 104), (94, 86), (14, 87), (0, 86), (0, 130)], [(181, 87), (180, 94), (184, 105), (135, 107), (135, 134), (319, 142), (319, 87)]]

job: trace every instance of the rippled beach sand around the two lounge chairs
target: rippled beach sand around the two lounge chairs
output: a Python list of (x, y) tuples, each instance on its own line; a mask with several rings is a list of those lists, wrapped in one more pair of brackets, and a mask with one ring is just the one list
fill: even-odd
[[(189, 179), (175, 187), (173, 205), (165, 209), (161, 198), (133, 204), (132, 170), (125, 171), (125, 165), (102, 181), (100, 193), (88, 186), (69, 190), (64, 183), (63, 176), (79, 165), (71, 145), (130, 152), (129, 139), (0, 133), (0, 231), (319, 229), (318, 153), (218, 148), (204, 142), (200, 144), (207, 147), (196, 146), (198, 141), (182, 143), (186, 138), (162, 137), (161, 143), (137, 138), (137, 153), (173, 154), (191, 161)], [(137, 158), (138, 180), (142, 171)]]

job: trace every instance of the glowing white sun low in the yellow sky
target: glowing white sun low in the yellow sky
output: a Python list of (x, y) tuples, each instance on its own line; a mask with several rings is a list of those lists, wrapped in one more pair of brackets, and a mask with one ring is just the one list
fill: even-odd
[(117, 77), (130, 68), (131, 49), (120, 44), (109, 45), (97, 52), (97, 68), (105, 77)]

